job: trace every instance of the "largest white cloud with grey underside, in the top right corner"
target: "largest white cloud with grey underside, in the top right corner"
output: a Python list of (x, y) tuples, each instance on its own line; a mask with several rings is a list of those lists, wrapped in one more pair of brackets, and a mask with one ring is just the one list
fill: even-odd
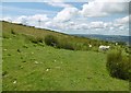
[(119, 0), (103, 0), (103, 2), (99, 2), (99, 0), (94, 0), (83, 4), (80, 13), (83, 16), (95, 18), (106, 16), (112, 13), (126, 13), (128, 9), (128, 2), (119, 2)]

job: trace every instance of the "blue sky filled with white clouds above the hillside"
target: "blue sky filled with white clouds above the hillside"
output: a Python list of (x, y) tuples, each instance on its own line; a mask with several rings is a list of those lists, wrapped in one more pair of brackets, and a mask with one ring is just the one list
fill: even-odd
[(129, 35), (129, 3), (123, 0), (12, 1), (0, 4), (0, 20), (67, 34)]

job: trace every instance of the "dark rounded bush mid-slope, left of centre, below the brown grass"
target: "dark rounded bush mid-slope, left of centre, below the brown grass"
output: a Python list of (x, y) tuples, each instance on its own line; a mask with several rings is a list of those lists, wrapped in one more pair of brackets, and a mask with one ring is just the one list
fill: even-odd
[(58, 38), (53, 35), (47, 35), (45, 37), (45, 44), (49, 45), (49, 46), (58, 46)]

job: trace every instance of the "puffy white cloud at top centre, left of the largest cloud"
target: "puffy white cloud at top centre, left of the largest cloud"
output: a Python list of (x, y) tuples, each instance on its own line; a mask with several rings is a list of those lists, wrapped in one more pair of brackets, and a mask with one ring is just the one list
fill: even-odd
[(74, 15), (76, 15), (79, 10), (76, 8), (64, 8), (62, 11), (58, 12), (58, 14), (53, 18), (56, 22), (66, 22), (71, 20)]

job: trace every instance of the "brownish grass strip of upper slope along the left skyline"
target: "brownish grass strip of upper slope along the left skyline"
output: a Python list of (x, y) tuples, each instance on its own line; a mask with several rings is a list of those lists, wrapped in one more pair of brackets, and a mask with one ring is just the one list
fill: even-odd
[[(8, 22), (2, 22), (2, 30), (4, 32), (11, 32), (11, 30), (12, 30), (15, 33), (31, 35), (31, 36), (35, 36), (35, 37), (37, 37), (37, 36), (38, 37), (45, 37), (48, 34), (56, 35), (57, 37), (60, 37), (60, 38), (61, 37), (62, 38), (68, 38), (68, 37), (73, 38), (74, 37), (74, 36), (66, 35), (66, 34), (62, 34), (62, 33), (57, 33), (57, 32), (49, 31), (49, 30), (35, 28), (33, 26), (29, 27), (29, 26), (24, 26), (22, 24), (11, 24), (11, 23), (8, 23)], [(3, 35), (4, 35), (4, 32), (3, 32)]]

